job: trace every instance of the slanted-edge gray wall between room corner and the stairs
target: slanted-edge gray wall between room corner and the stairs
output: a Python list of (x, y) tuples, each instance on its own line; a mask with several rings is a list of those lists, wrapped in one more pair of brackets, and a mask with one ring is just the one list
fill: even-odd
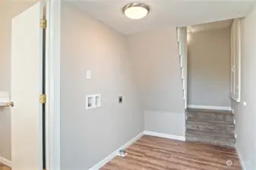
[(144, 129), (185, 134), (185, 110), (175, 27), (127, 36), (144, 108)]

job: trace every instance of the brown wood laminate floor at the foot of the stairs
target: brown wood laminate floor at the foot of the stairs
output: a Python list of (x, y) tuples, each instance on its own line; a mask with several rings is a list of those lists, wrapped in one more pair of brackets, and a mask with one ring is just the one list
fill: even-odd
[[(241, 170), (235, 149), (144, 135), (101, 170)], [(232, 166), (226, 165), (231, 160)]]

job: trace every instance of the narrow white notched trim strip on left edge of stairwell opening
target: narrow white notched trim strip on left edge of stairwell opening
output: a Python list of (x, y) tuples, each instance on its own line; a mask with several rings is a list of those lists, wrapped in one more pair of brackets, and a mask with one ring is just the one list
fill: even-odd
[(179, 48), (179, 63), (181, 68), (182, 91), (185, 109), (187, 108), (187, 28), (177, 28), (177, 40)]

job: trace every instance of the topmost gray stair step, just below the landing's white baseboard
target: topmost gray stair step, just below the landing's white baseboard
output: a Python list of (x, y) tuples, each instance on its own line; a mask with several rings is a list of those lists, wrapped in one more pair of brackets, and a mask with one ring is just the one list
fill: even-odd
[(234, 116), (229, 113), (205, 113), (205, 112), (187, 112), (188, 118), (198, 119), (201, 121), (213, 120), (213, 121), (227, 121), (233, 122)]

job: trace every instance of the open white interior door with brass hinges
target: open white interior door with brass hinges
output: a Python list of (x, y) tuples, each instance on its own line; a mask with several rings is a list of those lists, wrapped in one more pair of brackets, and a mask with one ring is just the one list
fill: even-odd
[(37, 3), (12, 20), (12, 170), (42, 170), (42, 7)]

